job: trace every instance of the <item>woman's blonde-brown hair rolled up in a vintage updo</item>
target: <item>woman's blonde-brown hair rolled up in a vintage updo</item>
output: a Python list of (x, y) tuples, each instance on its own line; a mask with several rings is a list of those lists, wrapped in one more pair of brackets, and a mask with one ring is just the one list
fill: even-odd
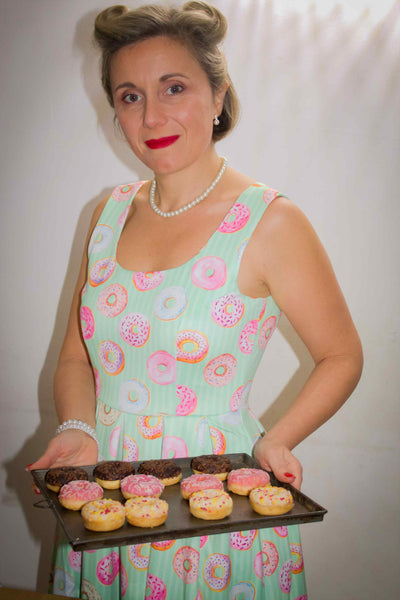
[(213, 140), (222, 139), (236, 125), (239, 116), (238, 98), (219, 47), (226, 30), (224, 15), (201, 0), (191, 0), (182, 8), (155, 4), (134, 10), (121, 5), (106, 8), (95, 20), (94, 38), (102, 52), (101, 81), (110, 105), (114, 107), (110, 81), (113, 55), (124, 46), (166, 36), (191, 52), (206, 73), (214, 93), (228, 82), (219, 125), (213, 129)]

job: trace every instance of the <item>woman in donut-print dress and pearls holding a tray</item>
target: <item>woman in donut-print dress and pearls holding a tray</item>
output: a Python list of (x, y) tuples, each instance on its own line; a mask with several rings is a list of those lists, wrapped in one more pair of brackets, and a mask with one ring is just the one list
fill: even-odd
[[(113, 7), (96, 20), (104, 89), (154, 179), (119, 186), (93, 215), (55, 377), (62, 425), (32, 469), (254, 450), (265, 469), (300, 488), (291, 450), (359, 379), (360, 342), (312, 227), (216, 152), (238, 110), (218, 48), (225, 31), (204, 2)], [(281, 311), (315, 368), (261, 435), (248, 393)], [(83, 553), (81, 564), (61, 543), (55, 590), (103, 599), (128, 588), (134, 598), (150, 590), (305, 597), (302, 561), (292, 563), (292, 552), (301, 556), (297, 527), (243, 539), (244, 548), (229, 534), (167, 549), (107, 548)]]

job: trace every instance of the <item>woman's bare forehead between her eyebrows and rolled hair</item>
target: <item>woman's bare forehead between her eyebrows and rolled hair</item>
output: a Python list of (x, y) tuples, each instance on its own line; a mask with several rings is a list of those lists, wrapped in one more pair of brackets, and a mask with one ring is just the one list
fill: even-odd
[[(206, 73), (187, 46), (169, 37), (158, 36), (118, 50), (111, 61), (111, 83), (120, 80), (159, 79), (180, 73), (199, 82), (208, 82)], [(139, 78), (139, 79), (138, 79)]]

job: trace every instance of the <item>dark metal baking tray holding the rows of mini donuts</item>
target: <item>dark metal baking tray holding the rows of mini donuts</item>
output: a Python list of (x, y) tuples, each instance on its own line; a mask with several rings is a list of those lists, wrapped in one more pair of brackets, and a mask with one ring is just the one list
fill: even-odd
[[(233, 469), (240, 469), (242, 467), (259, 468), (259, 464), (248, 454), (227, 454), (226, 456), (230, 458)], [(193, 473), (190, 468), (191, 460), (192, 457), (174, 459), (182, 469), (183, 478)], [(140, 462), (133, 463), (136, 469)], [(83, 468), (89, 473), (90, 479), (93, 479), (94, 465)], [(176, 484), (165, 487), (162, 493), (161, 497), (168, 502), (169, 512), (166, 522), (160, 527), (134, 527), (126, 522), (123, 527), (115, 531), (94, 532), (85, 529), (80, 511), (67, 510), (61, 506), (57, 494), (46, 487), (44, 481), (45, 475), (46, 469), (32, 471), (35, 483), (44, 497), (42, 502), (46, 502), (53, 510), (68, 542), (74, 550), (95, 550), (110, 546), (144, 544), (146, 542), (160, 542), (186, 537), (213, 535), (216, 533), (229, 533), (231, 531), (310, 523), (322, 521), (327, 512), (325, 508), (293, 488), (290, 484), (278, 482), (273, 474), (270, 473), (272, 485), (285, 487), (293, 495), (294, 507), (284, 515), (259, 515), (251, 508), (248, 496), (231, 494), (233, 511), (229, 517), (217, 521), (197, 519), (190, 514), (189, 502), (182, 498), (180, 486)], [(125, 502), (121, 490), (104, 490), (104, 497)]]

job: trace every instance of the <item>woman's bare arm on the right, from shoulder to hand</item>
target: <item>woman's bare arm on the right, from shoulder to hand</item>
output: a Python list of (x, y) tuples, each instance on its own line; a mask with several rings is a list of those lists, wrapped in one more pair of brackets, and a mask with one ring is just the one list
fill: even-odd
[(350, 396), (361, 375), (362, 349), (332, 266), (306, 217), (284, 198), (266, 212), (259, 236), (265, 240), (262, 280), (315, 367), (287, 412), (257, 443), (255, 456), (279, 479), (300, 487), (301, 465), (291, 450)]

